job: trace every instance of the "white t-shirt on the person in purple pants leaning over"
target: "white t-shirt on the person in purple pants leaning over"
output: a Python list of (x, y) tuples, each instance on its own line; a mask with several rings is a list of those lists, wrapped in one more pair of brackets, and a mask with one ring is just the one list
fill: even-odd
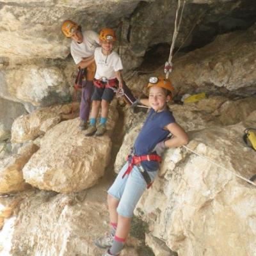
[(72, 40), (70, 44), (70, 52), (76, 64), (78, 64), (83, 58), (87, 58), (93, 55), (96, 47), (99, 46), (99, 35), (92, 31), (83, 31), (83, 42), (78, 44)]

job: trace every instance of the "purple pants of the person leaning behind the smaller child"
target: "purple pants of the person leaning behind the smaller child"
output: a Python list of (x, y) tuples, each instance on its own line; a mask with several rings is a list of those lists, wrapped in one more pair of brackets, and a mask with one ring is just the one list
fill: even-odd
[(80, 103), (80, 119), (87, 122), (90, 115), (93, 81), (83, 81)]

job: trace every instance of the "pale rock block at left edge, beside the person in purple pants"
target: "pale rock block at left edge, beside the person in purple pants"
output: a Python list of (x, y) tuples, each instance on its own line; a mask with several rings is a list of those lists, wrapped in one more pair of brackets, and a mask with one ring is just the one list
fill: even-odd
[(70, 100), (65, 77), (58, 67), (24, 65), (0, 70), (0, 74), (0, 95), (5, 99), (42, 107)]

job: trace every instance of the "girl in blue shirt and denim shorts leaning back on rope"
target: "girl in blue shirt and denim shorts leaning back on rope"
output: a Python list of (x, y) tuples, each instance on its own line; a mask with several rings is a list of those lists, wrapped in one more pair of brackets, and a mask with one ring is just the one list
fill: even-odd
[[(188, 143), (188, 135), (176, 122), (167, 102), (172, 99), (172, 84), (163, 77), (151, 77), (148, 83), (150, 111), (134, 143), (133, 152), (108, 190), (111, 234), (99, 237), (95, 244), (108, 248), (102, 256), (120, 255), (129, 234), (131, 218), (143, 191), (159, 169), (166, 148)], [(168, 135), (172, 134), (171, 138)]]

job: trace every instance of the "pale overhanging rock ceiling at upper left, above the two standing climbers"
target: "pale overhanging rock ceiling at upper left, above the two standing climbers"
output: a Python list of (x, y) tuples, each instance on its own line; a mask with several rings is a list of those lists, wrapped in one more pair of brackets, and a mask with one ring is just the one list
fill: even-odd
[(92, 13), (99, 11), (100, 4), (101, 15), (97, 23), (99, 28), (103, 28), (105, 22), (111, 24), (124, 15), (131, 14), (138, 2), (122, 0), (116, 4), (116, 1), (110, 0), (102, 5), (99, 1), (25, 1), (17, 6), (19, 1), (4, 1), (0, 12), (4, 17), (0, 55), (8, 58), (18, 55), (23, 59), (65, 58), (69, 53), (70, 41), (65, 40), (61, 33), (63, 20), (76, 20), (83, 28), (95, 29), (95, 17)]

